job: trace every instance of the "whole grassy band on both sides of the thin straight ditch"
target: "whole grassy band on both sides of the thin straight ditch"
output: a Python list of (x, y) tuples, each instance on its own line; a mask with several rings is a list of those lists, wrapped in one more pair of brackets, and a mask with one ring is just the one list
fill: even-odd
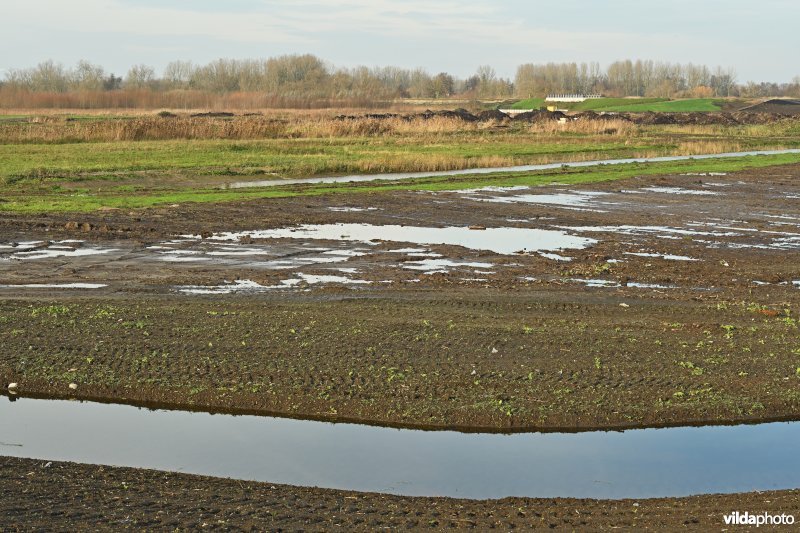
[[(539, 131), (525, 124), (512, 124), (496, 130), (415, 131), (364, 137), (72, 143), (57, 139), (51, 143), (0, 144), (0, 212), (89, 212), (103, 207), (139, 208), (340, 192), (458, 189), (489, 183), (538, 185), (553, 179), (578, 180), (576, 183), (619, 179), (628, 176), (626, 169), (649, 173), (655, 168), (668, 173), (678, 165), (465, 175), (368, 185), (220, 188), (231, 181), (265, 176), (280, 179), (433, 172), (554, 161), (794, 148), (800, 147), (797, 128), (797, 124), (788, 122), (747, 127), (642, 126), (608, 135), (581, 129)], [(747, 165), (796, 160), (758, 159)], [(692, 167), (692, 171), (727, 172), (734, 161), (737, 160), (690, 163), (699, 165)], [(765, 163), (768, 161), (774, 163)], [(553, 175), (556, 178), (547, 177)]]

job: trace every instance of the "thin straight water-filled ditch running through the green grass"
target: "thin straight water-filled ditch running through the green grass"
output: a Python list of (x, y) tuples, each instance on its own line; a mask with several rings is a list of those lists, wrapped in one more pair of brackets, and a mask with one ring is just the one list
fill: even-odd
[(431, 172), (399, 172), (394, 174), (355, 174), (350, 176), (325, 176), (317, 178), (300, 178), (287, 180), (260, 180), (260, 181), (239, 181), (229, 183), (223, 188), (245, 189), (249, 187), (275, 187), (280, 185), (296, 185), (302, 183), (353, 183), (361, 181), (376, 180), (404, 180), (413, 178), (425, 178), (434, 176), (459, 176), (467, 174), (491, 174), (498, 172), (529, 172), (533, 170), (551, 170), (562, 167), (591, 167), (598, 165), (623, 165), (627, 163), (657, 163), (661, 161), (689, 161), (692, 159), (712, 159), (727, 157), (744, 157), (753, 155), (778, 155), (778, 154), (797, 154), (800, 149), (792, 150), (758, 150), (752, 152), (727, 152), (722, 154), (704, 154), (690, 156), (665, 156), (665, 157), (641, 157), (631, 159), (608, 159), (596, 161), (562, 162), (548, 163), (543, 165), (520, 165), (515, 167), (490, 167), (490, 168), (469, 168), (463, 170), (443, 170)]

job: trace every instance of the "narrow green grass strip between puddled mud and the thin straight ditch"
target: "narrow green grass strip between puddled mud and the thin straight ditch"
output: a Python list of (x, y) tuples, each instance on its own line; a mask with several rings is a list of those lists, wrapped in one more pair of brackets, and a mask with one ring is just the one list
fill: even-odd
[(462, 175), (419, 178), (395, 182), (375, 181), (357, 184), (295, 185), (263, 189), (194, 189), (182, 191), (141, 191), (120, 194), (102, 193), (33, 194), (11, 197), (0, 203), (0, 212), (90, 212), (101, 207), (145, 208), (184, 202), (229, 202), (256, 198), (289, 198), (341, 193), (386, 193), (391, 191), (445, 191), (475, 187), (527, 185), (540, 186), (553, 183), (580, 184), (613, 181), (635, 176), (675, 174), (686, 172), (735, 172), (748, 168), (800, 163), (800, 154), (741, 157), (730, 159), (687, 160), (664, 163), (634, 163), (607, 165), (556, 171), (497, 173), (488, 175)]

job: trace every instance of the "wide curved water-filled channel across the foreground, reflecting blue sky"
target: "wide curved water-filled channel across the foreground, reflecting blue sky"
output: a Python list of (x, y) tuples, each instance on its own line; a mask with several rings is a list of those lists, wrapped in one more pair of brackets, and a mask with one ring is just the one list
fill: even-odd
[(481, 434), (21, 398), (0, 453), (408, 496), (652, 498), (800, 486), (800, 423)]

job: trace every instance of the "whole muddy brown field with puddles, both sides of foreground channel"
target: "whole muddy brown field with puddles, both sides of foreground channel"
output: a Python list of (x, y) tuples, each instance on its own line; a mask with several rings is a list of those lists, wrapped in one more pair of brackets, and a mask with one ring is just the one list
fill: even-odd
[[(464, 430), (796, 419), (798, 176), (4, 216), (0, 383)], [(468, 502), (2, 461), (12, 529), (706, 528), (798, 507), (794, 491)]]

